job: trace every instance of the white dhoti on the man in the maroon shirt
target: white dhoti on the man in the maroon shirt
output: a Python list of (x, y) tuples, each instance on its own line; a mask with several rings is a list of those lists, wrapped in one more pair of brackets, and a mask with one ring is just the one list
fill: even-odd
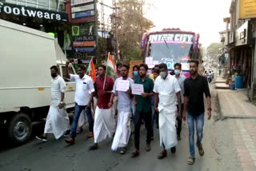
[(111, 109), (99, 109), (97, 106), (94, 117), (94, 143), (113, 136), (115, 121), (111, 111)]

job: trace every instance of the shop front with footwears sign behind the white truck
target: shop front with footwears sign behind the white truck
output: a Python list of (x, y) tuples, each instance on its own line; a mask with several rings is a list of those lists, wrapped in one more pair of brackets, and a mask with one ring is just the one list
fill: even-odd
[(54, 34), (58, 44), (70, 46), (70, 24), (61, 0), (0, 0), (0, 19)]

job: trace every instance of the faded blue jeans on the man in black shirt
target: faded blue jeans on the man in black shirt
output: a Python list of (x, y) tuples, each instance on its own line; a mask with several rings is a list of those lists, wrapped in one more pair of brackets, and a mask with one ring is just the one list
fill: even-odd
[(190, 113), (186, 113), (186, 116), (189, 127), (190, 156), (194, 157), (194, 123), (197, 129), (197, 145), (200, 145), (202, 141), (202, 129), (205, 115), (204, 113), (199, 115), (191, 115)]

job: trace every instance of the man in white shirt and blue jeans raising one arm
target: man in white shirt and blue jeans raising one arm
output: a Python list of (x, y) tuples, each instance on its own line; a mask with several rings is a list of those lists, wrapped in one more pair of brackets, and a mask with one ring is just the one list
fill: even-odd
[(66, 78), (69, 78), (71, 82), (75, 82), (75, 106), (74, 106), (74, 120), (72, 123), (71, 137), (66, 139), (66, 143), (74, 144), (74, 137), (76, 137), (76, 130), (78, 127), (78, 120), (82, 110), (86, 111), (86, 115), (89, 121), (90, 134), (88, 137), (94, 137), (94, 121), (91, 114), (90, 104), (94, 97), (94, 82), (86, 75), (86, 67), (78, 66), (78, 75), (69, 74), (68, 66), (70, 62), (66, 62)]

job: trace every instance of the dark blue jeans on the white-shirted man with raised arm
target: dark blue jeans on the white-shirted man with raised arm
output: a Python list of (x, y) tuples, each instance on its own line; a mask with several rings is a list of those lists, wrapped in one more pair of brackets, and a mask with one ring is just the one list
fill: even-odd
[(72, 122), (72, 129), (71, 129), (71, 138), (73, 138), (73, 139), (77, 134), (78, 120), (79, 120), (80, 114), (82, 113), (83, 109), (85, 110), (87, 118), (88, 118), (89, 130), (90, 130), (90, 132), (94, 131), (94, 120), (91, 115), (90, 107), (87, 107), (87, 105), (78, 105), (77, 103), (75, 103), (75, 105), (74, 105), (74, 120)]

